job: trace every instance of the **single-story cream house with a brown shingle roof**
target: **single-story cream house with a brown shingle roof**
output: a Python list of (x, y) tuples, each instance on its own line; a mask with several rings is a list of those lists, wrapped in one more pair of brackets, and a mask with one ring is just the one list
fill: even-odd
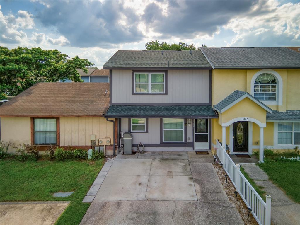
[(49, 145), (90, 149), (90, 135), (96, 135), (112, 155), (114, 122), (104, 118), (109, 101), (108, 83), (37, 83), (1, 105), (1, 140), (40, 150)]

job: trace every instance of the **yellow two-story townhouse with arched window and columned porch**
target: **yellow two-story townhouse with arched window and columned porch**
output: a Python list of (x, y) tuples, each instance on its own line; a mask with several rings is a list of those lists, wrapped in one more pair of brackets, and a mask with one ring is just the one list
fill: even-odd
[[(202, 48), (211, 64), (212, 142), (234, 154), (300, 145), (300, 54), (286, 47)], [(224, 147), (224, 146), (223, 146)], [(260, 154), (263, 161), (263, 154)]]

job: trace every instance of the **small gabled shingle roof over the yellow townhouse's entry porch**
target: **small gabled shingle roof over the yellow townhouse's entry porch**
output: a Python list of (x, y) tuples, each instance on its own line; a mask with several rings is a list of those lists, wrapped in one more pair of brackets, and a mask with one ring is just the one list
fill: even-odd
[[(234, 101), (238, 100), (242, 96), (247, 95), (248, 98), (265, 108), (267, 111), (272, 111), (269, 107), (267, 107), (265, 104), (263, 104), (261, 101), (254, 98), (252, 95), (250, 95), (248, 92), (235, 90), (230, 95), (228, 95), (226, 98), (224, 98), (222, 101), (220, 101), (218, 104), (214, 105), (214, 109), (218, 112), (221, 112), (223, 109), (225, 109), (227, 106), (232, 104)], [(226, 110), (224, 110), (226, 111)], [(221, 112), (222, 113), (222, 112)]]

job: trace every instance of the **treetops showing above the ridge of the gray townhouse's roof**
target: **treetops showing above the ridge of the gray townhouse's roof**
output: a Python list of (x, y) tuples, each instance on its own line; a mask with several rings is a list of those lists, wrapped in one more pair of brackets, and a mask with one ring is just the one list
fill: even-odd
[[(196, 47), (193, 44), (186, 44), (179, 42), (179, 44), (167, 44), (166, 42), (150, 41), (145, 44), (146, 50), (200, 50), (200, 47)], [(202, 48), (207, 48), (205, 44), (202, 44)]]

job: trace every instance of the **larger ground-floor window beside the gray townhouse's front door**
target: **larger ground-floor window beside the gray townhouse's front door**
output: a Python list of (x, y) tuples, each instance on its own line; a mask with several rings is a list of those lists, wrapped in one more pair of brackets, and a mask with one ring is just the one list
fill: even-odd
[(184, 119), (163, 119), (163, 142), (184, 142)]

